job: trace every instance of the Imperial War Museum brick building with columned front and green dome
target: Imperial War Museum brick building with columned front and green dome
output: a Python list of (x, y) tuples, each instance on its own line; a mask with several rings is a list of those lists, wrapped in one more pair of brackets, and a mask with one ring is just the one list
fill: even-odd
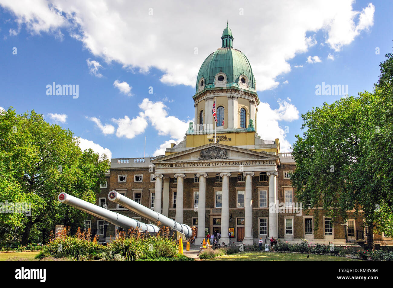
[[(96, 204), (149, 223), (108, 201), (109, 191), (115, 190), (176, 222), (195, 226), (196, 245), (216, 231), (225, 244), (252, 245), (272, 236), (325, 244), (365, 239), (361, 218), (349, 215), (342, 223), (325, 215), (322, 207), (302, 212), (289, 177), (296, 169), (291, 153), (280, 152), (279, 139), (264, 140), (256, 133), (260, 100), (251, 64), (233, 48), (228, 25), (221, 40), (221, 47), (200, 67), (193, 95), (196, 123), (190, 123), (184, 140), (171, 144), (163, 156), (112, 159)], [(85, 227), (91, 227), (101, 241), (108, 242), (123, 230), (90, 217)], [(375, 240), (391, 242), (383, 235), (375, 235)]]

